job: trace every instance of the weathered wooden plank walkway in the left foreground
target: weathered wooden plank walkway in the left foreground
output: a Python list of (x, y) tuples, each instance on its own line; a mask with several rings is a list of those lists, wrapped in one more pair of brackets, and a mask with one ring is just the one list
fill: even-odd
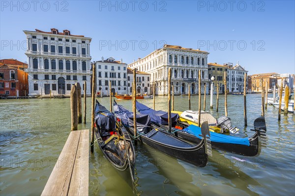
[(89, 129), (71, 131), (42, 196), (87, 196), (89, 188)]

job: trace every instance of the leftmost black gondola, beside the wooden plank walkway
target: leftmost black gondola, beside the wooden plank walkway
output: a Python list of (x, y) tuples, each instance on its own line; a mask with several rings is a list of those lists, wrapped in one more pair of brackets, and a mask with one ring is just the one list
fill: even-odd
[(97, 100), (95, 105), (94, 126), (95, 137), (104, 157), (117, 170), (122, 171), (119, 173), (122, 174), (123, 177), (131, 175), (131, 181), (127, 180), (127, 182), (133, 187), (135, 152), (132, 141), (124, 126), (116, 121), (115, 115), (108, 111)]

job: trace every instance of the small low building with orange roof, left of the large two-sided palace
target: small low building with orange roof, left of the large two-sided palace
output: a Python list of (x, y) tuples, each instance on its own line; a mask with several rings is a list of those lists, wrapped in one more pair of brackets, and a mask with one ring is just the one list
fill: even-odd
[[(133, 82), (133, 70), (127, 68), (127, 82), (128, 82), (128, 92), (132, 93), (132, 82)], [(145, 72), (140, 72), (136, 69), (136, 93), (138, 94), (150, 94), (150, 74)]]

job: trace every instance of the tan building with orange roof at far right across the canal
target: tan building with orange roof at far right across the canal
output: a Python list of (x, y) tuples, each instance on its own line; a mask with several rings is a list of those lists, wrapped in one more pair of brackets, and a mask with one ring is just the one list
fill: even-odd
[(251, 92), (262, 92), (262, 81), (264, 87), (266, 87), (266, 82), (268, 82), (268, 91), (272, 91), (273, 87), (278, 85), (279, 78), (280, 74), (278, 73), (253, 74), (251, 75)]

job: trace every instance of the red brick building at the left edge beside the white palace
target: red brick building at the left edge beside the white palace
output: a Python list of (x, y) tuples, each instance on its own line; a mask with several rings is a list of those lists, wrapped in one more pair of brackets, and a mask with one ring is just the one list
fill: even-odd
[[(4, 59), (6, 60), (6, 59)], [(14, 59), (13, 59), (14, 60)], [(0, 96), (15, 98), (29, 94), (28, 73), (18, 69), (18, 65), (11, 66), (0, 60)], [(19, 62), (19, 61), (18, 61)], [(23, 63), (25, 65), (25, 63)]]

